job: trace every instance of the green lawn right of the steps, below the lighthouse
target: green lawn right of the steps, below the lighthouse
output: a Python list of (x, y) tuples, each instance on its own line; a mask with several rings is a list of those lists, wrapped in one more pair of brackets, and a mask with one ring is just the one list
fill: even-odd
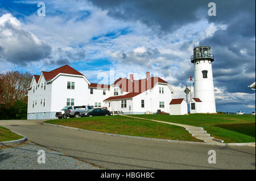
[(211, 136), (224, 142), (255, 142), (255, 116), (217, 114), (170, 115), (132, 115), (146, 119), (167, 121), (203, 127)]

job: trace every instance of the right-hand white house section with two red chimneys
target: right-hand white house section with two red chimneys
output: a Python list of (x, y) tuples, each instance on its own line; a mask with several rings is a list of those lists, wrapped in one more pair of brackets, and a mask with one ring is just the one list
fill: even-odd
[(141, 114), (147, 111), (170, 111), (168, 104), (172, 100), (174, 90), (168, 82), (159, 77), (134, 80), (119, 78), (110, 86), (110, 97), (104, 102), (110, 111), (122, 111), (125, 114)]

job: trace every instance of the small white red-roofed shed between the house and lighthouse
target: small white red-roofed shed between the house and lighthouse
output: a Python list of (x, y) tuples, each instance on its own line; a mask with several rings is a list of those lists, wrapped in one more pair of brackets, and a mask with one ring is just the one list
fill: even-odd
[(188, 104), (184, 98), (171, 100), (170, 115), (186, 115), (187, 113), (188, 113)]

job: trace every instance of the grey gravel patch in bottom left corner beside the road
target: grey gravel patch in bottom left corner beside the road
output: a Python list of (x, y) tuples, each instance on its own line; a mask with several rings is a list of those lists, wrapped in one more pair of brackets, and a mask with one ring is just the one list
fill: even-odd
[[(38, 150), (46, 153), (46, 163), (38, 163)], [(44, 148), (30, 141), (0, 148), (0, 170), (99, 170), (97, 166)]]

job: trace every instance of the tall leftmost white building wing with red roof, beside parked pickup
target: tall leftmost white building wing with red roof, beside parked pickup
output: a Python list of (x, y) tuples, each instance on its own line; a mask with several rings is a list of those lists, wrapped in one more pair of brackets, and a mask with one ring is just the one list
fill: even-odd
[(89, 84), (68, 65), (34, 75), (28, 88), (27, 119), (55, 119), (64, 106), (87, 105)]

